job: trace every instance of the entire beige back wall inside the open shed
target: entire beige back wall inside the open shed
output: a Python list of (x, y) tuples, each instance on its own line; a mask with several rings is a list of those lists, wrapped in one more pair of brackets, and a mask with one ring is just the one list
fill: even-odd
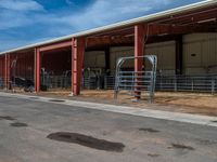
[[(119, 57), (132, 56), (133, 53), (133, 46), (111, 48), (112, 71), (115, 70), (116, 60)], [(163, 75), (175, 73), (175, 41), (148, 44), (145, 54), (157, 55), (157, 69)], [(192, 33), (183, 36), (183, 71), (186, 75), (217, 73), (216, 54), (217, 33)], [(89, 67), (104, 67), (104, 52), (86, 54), (85, 65)], [(124, 67), (133, 67), (133, 62), (125, 64)]]

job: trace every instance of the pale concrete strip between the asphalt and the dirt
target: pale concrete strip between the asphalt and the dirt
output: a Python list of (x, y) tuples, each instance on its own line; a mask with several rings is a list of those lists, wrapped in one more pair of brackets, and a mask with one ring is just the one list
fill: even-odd
[[(10, 93), (2, 93), (2, 92), (0, 92), (0, 96), (24, 98), (24, 99), (67, 105), (67, 106), (77, 106), (77, 107), (89, 108), (89, 109), (94, 109), (94, 110), (104, 110), (104, 111), (110, 111), (110, 112), (118, 112), (118, 113), (131, 114), (131, 116), (138, 116), (138, 117), (148, 117), (148, 118), (154, 118), (154, 119), (163, 119), (163, 120), (169, 120), (169, 121), (177, 121), (177, 122), (184, 122), (184, 123), (217, 127), (217, 123), (212, 122), (212, 121), (217, 121), (217, 117), (169, 112), (169, 111), (161, 111), (161, 110), (150, 110), (150, 109), (139, 109), (139, 108), (126, 107), (126, 106), (115, 106), (115, 105), (78, 102), (78, 100), (69, 100), (69, 99), (61, 99), (61, 100), (65, 100), (64, 103), (53, 103), (50, 100), (56, 99), (56, 98), (28, 96), (28, 95), (23, 95), (23, 94), (10, 94)], [(37, 99), (34, 99), (34, 97), (37, 97)]]

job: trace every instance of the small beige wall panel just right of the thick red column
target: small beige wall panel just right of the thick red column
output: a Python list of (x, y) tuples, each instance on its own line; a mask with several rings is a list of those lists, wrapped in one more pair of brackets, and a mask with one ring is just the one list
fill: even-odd
[(85, 68), (105, 68), (104, 51), (86, 52), (84, 57)]

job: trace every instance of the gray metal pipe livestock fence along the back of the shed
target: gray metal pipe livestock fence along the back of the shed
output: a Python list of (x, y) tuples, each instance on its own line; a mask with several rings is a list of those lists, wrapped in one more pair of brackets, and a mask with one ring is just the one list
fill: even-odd
[[(132, 82), (133, 83), (133, 82)], [(82, 89), (114, 90), (115, 76), (84, 77)], [(156, 91), (217, 93), (217, 75), (157, 75)]]

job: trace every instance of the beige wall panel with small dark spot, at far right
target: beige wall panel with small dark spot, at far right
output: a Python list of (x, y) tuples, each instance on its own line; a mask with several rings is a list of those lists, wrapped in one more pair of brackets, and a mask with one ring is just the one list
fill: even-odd
[(192, 33), (183, 37), (186, 75), (217, 72), (217, 33)]

